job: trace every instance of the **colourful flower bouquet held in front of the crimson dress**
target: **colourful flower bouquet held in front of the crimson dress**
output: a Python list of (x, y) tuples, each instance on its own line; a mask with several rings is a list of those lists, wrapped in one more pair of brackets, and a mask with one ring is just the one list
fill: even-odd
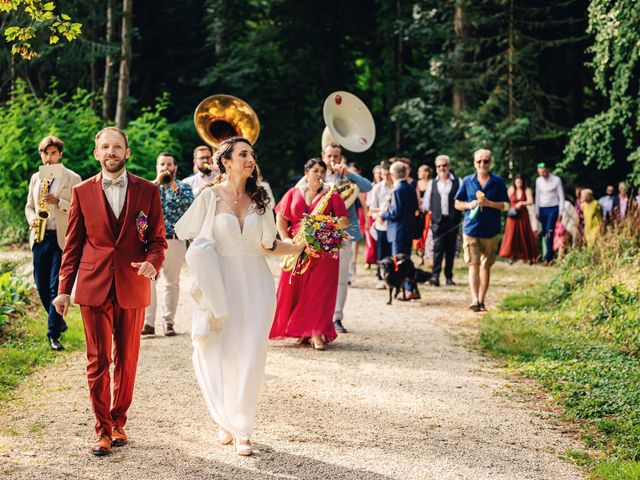
[(298, 256), (293, 275), (302, 275), (309, 267), (311, 257), (338, 258), (340, 249), (350, 238), (349, 234), (338, 226), (338, 219), (330, 215), (305, 214), (300, 228), (307, 247)]

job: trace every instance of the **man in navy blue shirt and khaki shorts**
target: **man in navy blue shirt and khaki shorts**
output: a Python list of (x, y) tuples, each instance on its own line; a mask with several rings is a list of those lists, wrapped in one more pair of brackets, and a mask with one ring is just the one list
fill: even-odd
[(469, 265), (469, 308), (474, 312), (487, 310), (484, 301), (498, 252), (500, 212), (509, 208), (507, 186), (501, 177), (489, 171), (491, 162), (489, 150), (476, 150), (473, 154), (476, 173), (464, 177), (455, 197), (456, 210), (464, 212), (462, 251)]

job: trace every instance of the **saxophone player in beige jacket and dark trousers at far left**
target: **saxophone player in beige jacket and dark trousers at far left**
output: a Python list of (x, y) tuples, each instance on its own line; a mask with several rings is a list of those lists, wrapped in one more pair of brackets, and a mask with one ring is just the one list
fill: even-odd
[[(38, 145), (40, 158), (44, 165), (60, 163), (64, 144), (62, 140), (52, 135), (42, 139)], [(58, 294), (58, 273), (64, 249), (64, 236), (67, 231), (71, 190), (81, 182), (80, 176), (62, 166), (62, 175), (54, 178), (49, 188), (42, 188), (39, 172), (31, 176), (29, 182), (29, 196), (24, 207), (24, 213), (31, 229), (29, 245), (33, 254), (33, 277), (36, 282), (42, 306), (49, 314), (47, 339), (52, 350), (62, 350), (60, 334), (67, 329), (67, 324), (51, 301)], [(39, 217), (38, 210), (45, 209), (49, 213), (46, 220), (46, 230), (42, 241), (36, 237)]]

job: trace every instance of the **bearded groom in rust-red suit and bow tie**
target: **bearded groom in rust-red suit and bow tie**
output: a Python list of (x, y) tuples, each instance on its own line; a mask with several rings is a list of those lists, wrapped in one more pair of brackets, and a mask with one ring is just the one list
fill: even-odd
[[(102, 172), (73, 189), (60, 267), (58, 313), (67, 314), (74, 281), (87, 343), (87, 379), (96, 416), (94, 455), (125, 445), (127, 410), (140, 349), (140, 330), (167, 248), (158, 188), (131, 175), (126, 133), (100, 130), (93, 155)], [(113, 352), (111, 400), (109, 367)]]

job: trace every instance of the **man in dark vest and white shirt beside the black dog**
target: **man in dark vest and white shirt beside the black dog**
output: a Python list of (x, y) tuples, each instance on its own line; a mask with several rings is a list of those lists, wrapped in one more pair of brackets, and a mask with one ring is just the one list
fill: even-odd
[(440, 286), (440, 271), (444, 257), (444, 276), (447, 285), (453, 281), (453, 261), (460, 228), (461, 214), (455, 208), (455, 195), (460, 188), (460, 180), (451, 173), (447, 155), (436, 157), (436, 177), (427, 185), (422, 197), (422, 209), (431, 212), (431, 232), (433, 233), (433, 271), (429, 283)]

